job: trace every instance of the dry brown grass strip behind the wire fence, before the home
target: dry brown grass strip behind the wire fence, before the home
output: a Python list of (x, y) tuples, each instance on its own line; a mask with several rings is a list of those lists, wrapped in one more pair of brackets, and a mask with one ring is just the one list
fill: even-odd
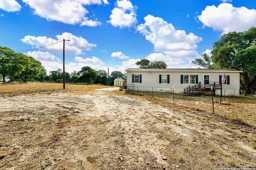
[[(127, 94), (131, 97), (137, 95)], [(170, 95), (169, 95), (170, 96)], [(138, 97), (138, 96), (137, 96)], [(164, 97), (164, 98), (163, 98)], [(175, 103), (171, 97), (164, 95), (151, 97), (150, 94), (140, 92), (140, 98), (145, 98), (153, 103), (171, 107), (174, 111), (183, 113), (206, 112), (211, 115), (212, 101), (209, 97), (182, 97), (175, 95)], [(256, 127), (256, 96), (226, 97), (226, 100), (220, 103), (220, 97), (214, 97), (214, 114), (227, 118), (229, 121), (245, 126)], [(205, 118), (205, 117), (204, 117)]]

